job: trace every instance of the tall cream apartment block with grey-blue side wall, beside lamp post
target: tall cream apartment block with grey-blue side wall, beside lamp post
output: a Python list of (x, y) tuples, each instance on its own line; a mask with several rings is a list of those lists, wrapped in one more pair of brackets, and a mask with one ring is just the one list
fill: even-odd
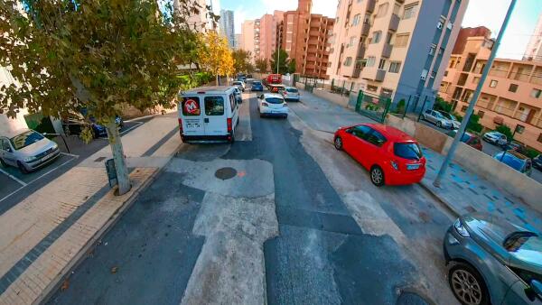
[(468, 0), (340, 0), (328, 73), (409, 110), (433, 100)]

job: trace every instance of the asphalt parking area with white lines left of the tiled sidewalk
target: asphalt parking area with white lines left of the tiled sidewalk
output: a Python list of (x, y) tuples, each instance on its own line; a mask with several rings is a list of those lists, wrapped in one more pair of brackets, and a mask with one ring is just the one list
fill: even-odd
[[(150, 117), (126, 122), (120, 133), (127, 134), (148, 120)], [(84, 143), (77, 135), (63, 139), (56, 136), (53, 141), (59, 145), (61, 156), (37, 171), (23, 174), (17, 168), (0, 165), (0, 214), (107, 145), (105, 138)]]

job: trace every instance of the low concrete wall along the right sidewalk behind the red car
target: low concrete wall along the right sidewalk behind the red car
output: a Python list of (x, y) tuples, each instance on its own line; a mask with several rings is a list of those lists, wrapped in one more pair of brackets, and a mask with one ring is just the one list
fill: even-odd
[[(406, 134), (413, 135), (419, 143), (441, 154), (448, 152), (453, 142), (452, 137), (408, 118), (401, 119), (397, 116), (388, 115), (386, 124), (394, 126)], [(542, 185), (536, 180), (515, 171), (508, 165), (494, 160), (490, 155), (464, 143), (459, 144), (453, 156), (453, 162), (457, 162), (468, 168), (469, 171), (490, 180), (500, 189), (508, 191), (525, 201), (532, 208), (542, 212)]]

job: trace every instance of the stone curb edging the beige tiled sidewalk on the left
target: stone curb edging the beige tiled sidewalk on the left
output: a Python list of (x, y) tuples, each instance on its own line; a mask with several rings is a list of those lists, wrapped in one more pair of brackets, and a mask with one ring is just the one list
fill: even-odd
[[(139, 188), (136, 189), (128, 199), (126, 199), (125, 203), (120, 208), (118, 208), (111, 217), (109, 217), (107, 223), (98, 229), (96, 234), (89, 239), (87, 244), (83, 245), (80, 248), (79, 253), (76, 254), (75, 257), (66, 264), (61, 273), (57, 275), (57, 280), (52, 281), (54, 283), (51, 282), (51, 285), (49, 285), (45, 288), (44, 291), (42, 291), (42, 297), (34, 300), (33, 304), (42, 304), (51, 299), (52, 295), (61, 287), (61, 283), (70, 278), (71, 272), (77, 269), (79, 264), (83, 263), (87, 259), (89, 252), (94, 249), (98, 245), (98, 242), (101, 240), (101, 238), (105, 236), (107, 232), (109, 232), (109, 230), (113, 228), (113, 226), (115, 226), (115, 224), (117, 224), (118, 219), (120, 219), (120, 217), (122, 217), (126, 213), (128, 208), (132, 207), (135, 199), (137, 199), (141, 191), (146, 189), (152, 182), (154, 182), (156, 177), (158, 177), (158, 174), (163, 169), (164, 167), (162, 169), (156, 168), (156, 171), (154, 171), (146, 180), (141, 183)], [(111, 189), (110, 191), (114, 191), (114, 189)]]

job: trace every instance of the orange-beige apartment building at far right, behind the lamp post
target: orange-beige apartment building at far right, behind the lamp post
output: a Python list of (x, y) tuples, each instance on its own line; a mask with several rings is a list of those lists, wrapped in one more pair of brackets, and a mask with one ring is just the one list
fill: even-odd
[[(439, 94), (462, 115), (480, 82), (492, 45), (489, 35), (468, 37), (462, 52), (452, 54)], [(512, 131), (524, 127), (514, 139), (542, 151), (541, 109), (542, 62), (494, 60), (474, 107), (481, 125), (488, 129), (508, 125)]]

